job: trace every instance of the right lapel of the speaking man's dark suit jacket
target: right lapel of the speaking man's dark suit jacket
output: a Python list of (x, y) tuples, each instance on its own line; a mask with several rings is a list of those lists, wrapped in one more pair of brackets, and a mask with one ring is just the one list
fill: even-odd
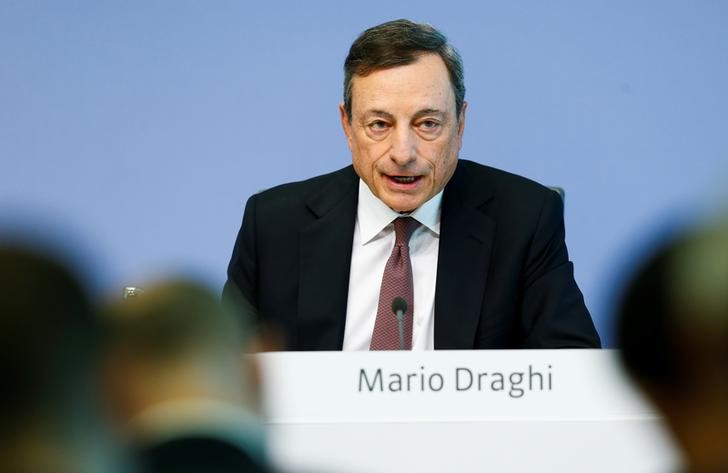
[(442, 199), (435, 289), (435, 348), (471, 349), (482, 312), (495, 222), (480, 207), (493, 196), (468, 179), (466, 163)]

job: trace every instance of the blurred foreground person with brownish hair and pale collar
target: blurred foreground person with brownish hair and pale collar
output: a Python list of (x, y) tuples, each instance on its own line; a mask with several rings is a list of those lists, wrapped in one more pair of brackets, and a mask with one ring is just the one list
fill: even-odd
[(142, 471), (270, 471), (239, 310), (172, 280), (104, 312), (109, 396)]

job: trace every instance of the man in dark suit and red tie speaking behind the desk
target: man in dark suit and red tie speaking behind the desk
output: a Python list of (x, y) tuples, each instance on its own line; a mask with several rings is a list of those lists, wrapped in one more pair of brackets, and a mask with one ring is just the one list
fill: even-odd
[(344, 70), (353, 166), (250, 198), (224, 297), (291, 350), (598, 347), (559, 196), (458, 161), (467, 103), (446, 38), (384, 23)]

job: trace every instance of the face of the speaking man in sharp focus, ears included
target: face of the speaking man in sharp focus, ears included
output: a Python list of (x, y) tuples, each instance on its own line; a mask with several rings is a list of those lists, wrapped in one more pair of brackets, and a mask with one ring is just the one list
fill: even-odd
[(354, 76), (351, 122), (343, 104), (339, 111), (356, 173), (393, 210), (415, 210), (455, 172), (466, 106), (456, 116), (450, 77), (437, 54)]

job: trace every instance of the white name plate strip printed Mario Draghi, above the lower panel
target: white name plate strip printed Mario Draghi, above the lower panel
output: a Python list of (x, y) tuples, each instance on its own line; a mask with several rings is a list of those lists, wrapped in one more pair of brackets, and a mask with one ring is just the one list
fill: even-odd
[(270, 423), (657, 418), (626, 381), (614, 350), (256, 357)]

